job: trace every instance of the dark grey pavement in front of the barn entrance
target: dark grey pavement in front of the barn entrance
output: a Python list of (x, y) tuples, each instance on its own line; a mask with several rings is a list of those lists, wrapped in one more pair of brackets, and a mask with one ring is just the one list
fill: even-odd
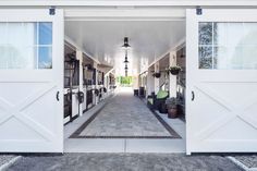
[(8, 171), (242, 171), (225, 157), (171, 154), (24, 156)]

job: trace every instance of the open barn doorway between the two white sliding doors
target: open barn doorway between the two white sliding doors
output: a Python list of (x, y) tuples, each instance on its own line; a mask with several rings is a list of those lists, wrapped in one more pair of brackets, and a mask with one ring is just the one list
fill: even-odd
[[(65, 21), (65, 57), (82, 62), (81, 75), (68, 74), (81, 84), (69, 87), (77, 102), (70, 101), (64, 151), (185, 152), (184, 103), (176, 119), (159, 109), (170, 97), (185, 98), (184, 36), (184, 20)], [(124, 37), (130, 49), (122, 48)], [(169, 74), (176, 62), (183, 72)], [(156, 108), (148, 105), (152, 95)]]

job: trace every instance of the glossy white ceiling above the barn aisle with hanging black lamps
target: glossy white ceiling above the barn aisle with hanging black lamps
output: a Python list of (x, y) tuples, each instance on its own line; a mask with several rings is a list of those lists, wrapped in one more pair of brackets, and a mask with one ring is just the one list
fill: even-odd
[(65, 35), (91, 57), (124, 71), (123, 38), (130, 38), (128, 71), (151, 63), (185, 37), (184, 21), (66, 21)]

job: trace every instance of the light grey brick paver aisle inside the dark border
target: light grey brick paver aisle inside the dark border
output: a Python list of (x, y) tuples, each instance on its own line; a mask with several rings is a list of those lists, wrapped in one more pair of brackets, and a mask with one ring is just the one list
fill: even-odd
[(79, 136), (172, 137), (146, 105), (132, 91), (120, 91), (110, 99)]

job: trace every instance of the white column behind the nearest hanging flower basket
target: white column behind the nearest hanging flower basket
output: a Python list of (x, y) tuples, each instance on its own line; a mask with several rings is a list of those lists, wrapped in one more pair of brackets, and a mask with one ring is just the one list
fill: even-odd
[[(176, 65), (176, 52), (170, 52), (170, 66)], [(170, 82), (170, 97), (176, 97), (176, 75), (169, 74)]]

